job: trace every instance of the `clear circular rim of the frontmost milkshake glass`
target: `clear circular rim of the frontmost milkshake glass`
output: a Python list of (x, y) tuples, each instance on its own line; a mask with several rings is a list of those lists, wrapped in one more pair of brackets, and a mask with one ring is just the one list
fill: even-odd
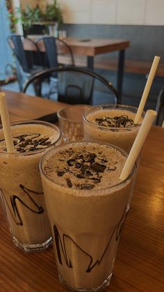
[[(98, 189), (90, 189), (90, 190), (81, 190), (81, 189), (76, 189), (76, 188), (69, 188), (69, 187), (65, 187), (63, 185), (60, 185), (58, 183), (56, 183), (52, 178), (49, 178), (46, 174), (45, 174), (45, 171), (42, 167), (42, 164), (44, 163), (44, 160), (46, 159), (46, 157), (51, 154), (51, 152), (55, 152), (56, 150), (58, 151), (58, 148), (67, 148), (67, 146), (71, 146), (71, 145), (76, 145), (76, 144), (98, 144), (98, 145), (106, 145), (108, 147), (112, 147), (112, 148), (115, 148), (117, 151), (120, 151), (124, 156), (128, 157), (128, 153), (126, 153), (126, 151), (124, 151), (122, 148), (120, 147), (117, 147), (113, 144), (109, 144), (109, 143), (106, 143), (106, 142), (102, 142), (102, 141), (83, 141), (83, 140), (79, 140), (79, 141), (70, 141), (70, 142), (67, 142), (65, 144), (60, 144), (58, 146), (56, 146), (56, 148), (53, 148), (53, 149), (49, 149), (49, 151), (47, 151), (46, 153), (44, 153), (44, 155), (42, 156), (42, 158), (40, 159), (40, 164), (39, 164), (39, 169), (40, 169), (40, 174), (42, 174), (42, 176), (44, 176), (44, 178), (46, 178), (47, 180), (49, 180), (51, 183), (54, 183), (55, 185), (58, 185), (59, 187), (63, 188), (63, 190), (69, 190), (72, 192), (76, 192), (76, 190), (78, 191), (78, 196), (80, 197), (80, 195), (83, 195), (85, 192), (99, 192), (100, 190), (112, 190), (113, 188), (115, 187), (118, 187), (124, 183), (126, 183), (127, 180), (129, 180), (129, 178), (131, 178), (135, 172), (135, 169), (136, 169), (136, 164), (133, 165), (133, 169), (131, 170), (131, 173), (129, 174), (129, 176), (127, 178), (125, 178), (124, 180), (121, 180), (119, 183), (115, 184), (115, 185), (108, 185), (108, 186), (105, 186), (105, 187), (101, 187), (101, 188), (98, 188)], [(61, 149), (62, 150), (62, 149)]]

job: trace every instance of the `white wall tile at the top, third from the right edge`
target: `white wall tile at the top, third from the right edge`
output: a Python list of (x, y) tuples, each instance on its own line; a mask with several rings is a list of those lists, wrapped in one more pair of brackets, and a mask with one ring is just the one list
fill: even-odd
[(92, 0), (91, 23), (114, 24), (116, 22), (117, 0)]

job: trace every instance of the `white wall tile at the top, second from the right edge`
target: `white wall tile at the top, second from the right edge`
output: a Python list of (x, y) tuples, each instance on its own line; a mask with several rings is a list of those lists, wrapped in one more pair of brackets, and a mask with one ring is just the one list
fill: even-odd
[[(148, 0), (149, 1), (149, 0)], [(143, 24), (145, 0), (118, 0), (117, 24)]]

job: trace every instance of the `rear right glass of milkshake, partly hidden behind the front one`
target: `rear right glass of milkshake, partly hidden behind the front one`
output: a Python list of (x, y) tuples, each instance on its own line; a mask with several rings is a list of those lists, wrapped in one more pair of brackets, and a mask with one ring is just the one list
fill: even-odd
[(140, 123), (135, 124), (137, 108), (124, 105), (104, 105), (88, 109), (83, 118), (85, 140), (114, 144), (130, 152)]

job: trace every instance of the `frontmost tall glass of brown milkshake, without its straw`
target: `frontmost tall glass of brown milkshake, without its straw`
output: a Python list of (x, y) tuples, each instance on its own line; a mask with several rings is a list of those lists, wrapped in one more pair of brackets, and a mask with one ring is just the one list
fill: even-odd
[[(133, 174), (120, 174), (126, 154), (106, 143), (61, 145), (40, 171), (60, 281), (73, 291), (110, 283)], [(97, 290), (95, 290), (97, 289)]]

